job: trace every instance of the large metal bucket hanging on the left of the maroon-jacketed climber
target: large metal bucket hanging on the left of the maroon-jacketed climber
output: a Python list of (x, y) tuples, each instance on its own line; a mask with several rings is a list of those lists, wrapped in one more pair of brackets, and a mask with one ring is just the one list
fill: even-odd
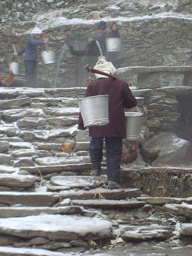
[(77, 99), (84, 127), (109, 123), (108, 97), (108, 95), (98, 95)]

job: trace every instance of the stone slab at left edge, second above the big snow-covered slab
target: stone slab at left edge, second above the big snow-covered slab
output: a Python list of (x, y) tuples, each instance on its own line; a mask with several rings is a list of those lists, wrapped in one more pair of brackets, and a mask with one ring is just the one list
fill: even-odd
[(51, 192), (0, 192), (0, 203), (8, 205), (52, 206), (59, 201), (60, 196)]

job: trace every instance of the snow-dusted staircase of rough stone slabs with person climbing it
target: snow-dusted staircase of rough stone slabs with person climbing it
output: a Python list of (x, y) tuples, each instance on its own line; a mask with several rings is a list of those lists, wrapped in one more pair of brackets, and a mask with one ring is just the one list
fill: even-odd
[[(89, 176), (90, 138), (77, 130), (78, 93), (0, 89), (0, 255), (111, 255), (117, 243), (190, 240), (191, 198), (109, 190), (105, 158), (102, 175)], [(76, 152), (68, 157), (61, 143), (75, 136)]]

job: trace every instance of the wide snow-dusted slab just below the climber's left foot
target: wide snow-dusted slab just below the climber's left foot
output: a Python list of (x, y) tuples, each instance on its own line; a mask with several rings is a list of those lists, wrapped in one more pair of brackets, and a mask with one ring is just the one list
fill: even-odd
[(107, 175), (93, 176), (53, 176), (50, 183), (57, 186), (68, 186), (70, 188), (95, 188), (107, 182)]

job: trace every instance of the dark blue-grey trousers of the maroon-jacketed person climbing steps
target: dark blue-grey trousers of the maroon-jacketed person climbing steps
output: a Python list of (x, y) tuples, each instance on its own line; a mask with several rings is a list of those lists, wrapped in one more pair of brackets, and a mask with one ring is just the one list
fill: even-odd
[[(92, 138), (89, 145), (89, 155), (92, 170), (100, 170), (103, 158), (103, 138)], [(122, 138), (105, 137), (105, 150), (107, 160), (107, 178), (110, 181), (119, 182), (122, 156)]]

